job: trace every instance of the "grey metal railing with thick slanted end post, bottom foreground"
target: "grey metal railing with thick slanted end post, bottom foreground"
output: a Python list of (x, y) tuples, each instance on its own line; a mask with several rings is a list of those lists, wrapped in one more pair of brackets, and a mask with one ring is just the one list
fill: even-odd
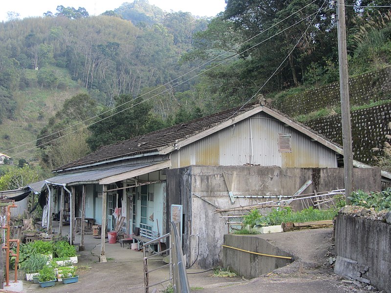
[[(190, 292), (190, 286), (189, 286), (189, 281), (187, 279), (187, 274), (186, 274), (186, 268), (183, 260), (183, 252), (182, 252), (182, 245), (181, 245), (181, 238), (179, 236), (179, 232), (177, 230), (175, 222), (171, 222), (171, 231), (170, 233), (167, 233), (163, 236), (160, 236), (156, 239), (152, 239), (149, 242), (146, 242), (143, 245), (143, 252), (144, 252), (144, 288), (145, 288), (145, 293), (149, 293), (149, 289), (153, 286), (169, 282), (171, 281), (171, 284), (173, 286), (174, 293), (189, 293)], [(152, 243), (156, 243), (156, 241), (159, 241), (163, 238), (169, 237), (169, 243), (170, 243), (170, 248), (164, 250), (164, 251), (159, 251), (156, 254), (152, 254), (150, 256), (146, 255), (146, 248), (148, 245)], [(161, 255), (164, 252), (169, 252), (170, 253), (170, 263), (165, 264), (163, 266), (160, 266), (158, 268), (155, 268), (151, 271), (148, 270), (148, 259)], [(163, 269), (167, 266), (170, 266), (170, 277), (167, 280), (163, 280), (157, 283), (150, 284), (149, 283), (149, 274), (153, 271)]]

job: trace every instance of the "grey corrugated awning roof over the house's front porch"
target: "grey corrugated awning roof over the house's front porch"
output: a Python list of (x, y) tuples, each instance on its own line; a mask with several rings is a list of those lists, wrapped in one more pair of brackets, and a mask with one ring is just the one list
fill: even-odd
[(90, 171), (84, 171), (84, 172), (77, 172), (77, 173), (69, 173), (69, 174), (63, 174), (58, 175), (49, 179), (46, 179), (46, 181), (58, 185), (63, 184), (75, 184), (79, 182), (90, 182), (90, 183), (96, 183), (100, 179), (107, 178), (110, 176), (122, 174), (125, 172), (129, 172), (136, 169), (141, 169), (143, 167), (152, 166), (154, 164), (158, 164), (160, 162), (149, 162), (149, 163), (143, 163), (143, 164), (132, 164), (132, 165), (126, 165), (126, 166), (119, 166), (119, 167), (110, 167), (106, 169), (99, 169), (99, 170), (90, 170)]

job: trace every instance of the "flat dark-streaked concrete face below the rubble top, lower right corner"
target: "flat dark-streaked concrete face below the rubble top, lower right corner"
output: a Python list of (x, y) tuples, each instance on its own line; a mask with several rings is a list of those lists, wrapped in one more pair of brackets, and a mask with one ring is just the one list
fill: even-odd
[(361, 217), (339, 214), (335, 223), (338, 256), (369, 267), (361, 278), (379, 290), (391, 292), (391, 225)]

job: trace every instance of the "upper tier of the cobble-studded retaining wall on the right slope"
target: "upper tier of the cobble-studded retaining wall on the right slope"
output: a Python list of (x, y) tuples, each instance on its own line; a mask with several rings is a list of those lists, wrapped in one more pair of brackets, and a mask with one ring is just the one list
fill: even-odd
[[(391, 99), (391, 67), (349, 78), (350, 105)], [(272, 106), (289, 116), (340, 106), (339, 82), (277, 99)]]

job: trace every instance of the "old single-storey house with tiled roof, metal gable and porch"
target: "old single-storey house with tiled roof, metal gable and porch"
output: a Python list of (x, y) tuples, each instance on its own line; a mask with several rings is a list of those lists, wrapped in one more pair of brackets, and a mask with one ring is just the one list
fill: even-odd
[[(127, 233), (139, 227), (162, 235), (170, 227), (171, 209), (178, 208), (188, 263), (210, 267), (218, 262), (221, 235), (227, 232), (214, 209), (243, 205), (244, 199), (232, 200), (240, 190), (292, 195), (315, 173), (316, 188), (343, 188), (342, 154), (340, 146), (282, 113), (245, 105), (104, 146), (56, 168), (45, 181), (48, 214), (69, 217), (72, 238), (72, 219), (87, 219), (107, 231), (119, 214)], [(360, 186), (380, 188), (380, 170), (357, 176)], [(102, 238), (102, 260), (104, 254)]]

